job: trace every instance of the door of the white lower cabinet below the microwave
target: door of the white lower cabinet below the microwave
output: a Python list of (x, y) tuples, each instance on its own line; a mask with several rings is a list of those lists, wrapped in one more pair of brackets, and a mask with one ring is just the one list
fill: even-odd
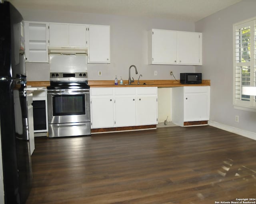
[(184, 122), (209, 120), (208, 93), (184, 95)]

